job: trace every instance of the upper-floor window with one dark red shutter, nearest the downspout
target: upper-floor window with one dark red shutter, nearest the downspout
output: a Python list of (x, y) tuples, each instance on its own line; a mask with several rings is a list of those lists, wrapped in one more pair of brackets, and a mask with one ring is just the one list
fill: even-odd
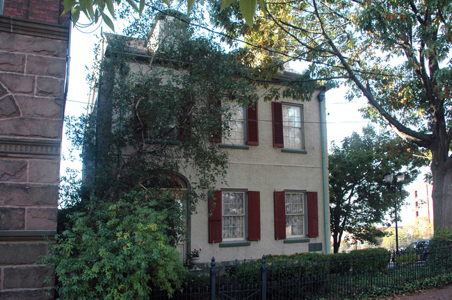
[(273, 147), (303, 151), (303, 106), (272, 102), (272, 118)]

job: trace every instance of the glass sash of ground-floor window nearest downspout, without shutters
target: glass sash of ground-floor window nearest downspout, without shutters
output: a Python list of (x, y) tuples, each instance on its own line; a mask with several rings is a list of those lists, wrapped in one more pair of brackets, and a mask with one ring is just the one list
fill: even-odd
[(305, 193), (286, 192), (286, 237), (305, 235)]

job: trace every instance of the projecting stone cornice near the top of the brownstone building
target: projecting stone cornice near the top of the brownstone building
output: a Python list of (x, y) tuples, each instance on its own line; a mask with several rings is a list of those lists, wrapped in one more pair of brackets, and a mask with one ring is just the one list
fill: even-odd
[(4, 15), (0, 15), (0, 31), (33, 35), (55, 40), (67, 40), (69, 38), (69, 27), (18, 19)]

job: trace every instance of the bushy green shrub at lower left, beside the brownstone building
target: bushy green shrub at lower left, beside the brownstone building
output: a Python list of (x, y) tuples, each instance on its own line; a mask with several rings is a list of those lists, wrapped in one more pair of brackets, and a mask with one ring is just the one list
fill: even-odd
[(150, 299), (152, 290), (180, 288), (184, 267), (157, 205), (131, 192), (72, 215), (74, 226), (42, 260), (56, 267), (60, 299)]

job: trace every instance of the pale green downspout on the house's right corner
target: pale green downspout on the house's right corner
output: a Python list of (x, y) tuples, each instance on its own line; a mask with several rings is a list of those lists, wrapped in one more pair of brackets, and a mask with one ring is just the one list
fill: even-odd
[(318, 104), (320, 108), (320, 136), (322, 144), (322, 176), (323, 176), (323, 225), (325, 226), (325, 253), (330, 253), (330, 232), (328, 228), (328, 216), (330, 206), (328, 205), (328, 170), (327, 170), (327, 147), (326, 147), (326, 135), (325, 135), (325, 88), (317, 96)]

